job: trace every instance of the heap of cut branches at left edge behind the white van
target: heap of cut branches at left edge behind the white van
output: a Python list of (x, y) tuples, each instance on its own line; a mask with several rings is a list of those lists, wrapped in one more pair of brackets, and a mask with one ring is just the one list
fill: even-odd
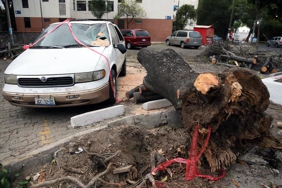
[(11, 45), (11, 43), (4, 44), (0, 46), (0, 57), (6, 60), (7, 58), (10, 58), (11, 60), (14, 60), (19, 54), (15, 54), (15, 52), (22, 50), (23, 48), (21, 46), (24, 46), (24, 44), (16, 44)]

